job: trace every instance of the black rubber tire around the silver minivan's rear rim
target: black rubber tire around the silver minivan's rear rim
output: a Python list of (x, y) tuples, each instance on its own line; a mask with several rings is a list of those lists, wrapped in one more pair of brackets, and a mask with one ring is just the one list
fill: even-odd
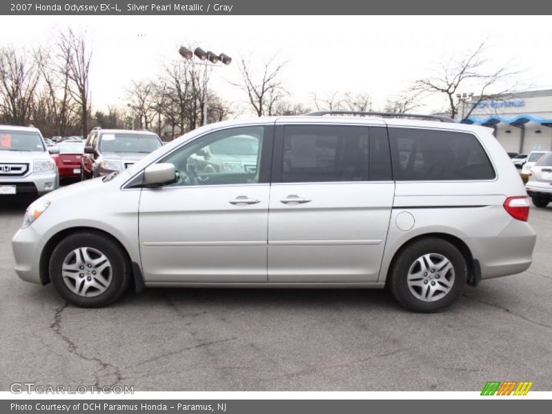
[[(449, 259), (454, 270), (454, 280), (449, 292), (443, 297), (435, 299), (433, 302), (425, 302), (416, 297), (411, 292), (407, 282), (408, 271), (411, 269), (411, 266), (414, 265), (418, 258), (427, 254), (442, 255), (446, 257)], [(425, 273), (423, 274), (425, 275)], [(450, 274), (447, 274), (450, 277)], [(431, 273), (428, 277), (435, 277), (435, 275), (436, 274)], [(438, 312), (451, 306), (457, 297), (460, 296), (462, 288), (464, 288), (466, 284), (467, 277), (468, 267), (460, 250), (444, 239), (428, 237), (404, 246), (404, 248), (397, 253), (397, 257), (393, 260), (391, 270), (389, 271), (388, 287), (393, 297), (408, 310), (421, 313)], [(441, 279), (441, 282), (442, 281)], [(422, 282), (426, 283), (426, 281)], [(439, 283), (437, 279), (429, 279), (427, 281), (427, 283), (433, 282), (436, 284)], [(420, 289), (422, 289), (422, 287), (420, 287)]]

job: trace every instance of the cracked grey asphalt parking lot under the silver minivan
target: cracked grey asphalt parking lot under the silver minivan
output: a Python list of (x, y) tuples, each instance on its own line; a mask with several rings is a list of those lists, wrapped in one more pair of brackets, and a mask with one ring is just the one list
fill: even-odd
[(0, 201), (0, 390), (13, 382), (135, 391), (552, 391), (552, 206), (532, 208), (533, 266), (466, 287), (444, 313), (384, 290), (150, 289), (66, 305), (15, 275), (25, 204)]

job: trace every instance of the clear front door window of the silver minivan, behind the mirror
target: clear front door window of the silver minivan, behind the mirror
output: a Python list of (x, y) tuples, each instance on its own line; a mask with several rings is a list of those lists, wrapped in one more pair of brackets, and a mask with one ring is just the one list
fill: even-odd
[(259, 182), (264, 126), (211, 132), (179, 148), (161, 162), (175, 166), (172, 186), (255, 184)]

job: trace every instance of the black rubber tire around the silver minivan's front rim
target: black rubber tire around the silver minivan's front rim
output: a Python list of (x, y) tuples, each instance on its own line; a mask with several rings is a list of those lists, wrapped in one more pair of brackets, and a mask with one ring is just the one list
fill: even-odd
[[(92, 248), (103, 253), (111, 264), (110, 284), (103, 293), (84, 297), (73, 292), (63, 280), (63, 260), (77, 248)], [(117, 300), (130, 284), (130, 263), (119, 244), (101, 233), (79, 232), (67, 236), (55, 247), (50, 257), (50, 281), (67, 302), (81, 308), (101, 308)], [(93, 276), (92, 276), (93, 277)]]

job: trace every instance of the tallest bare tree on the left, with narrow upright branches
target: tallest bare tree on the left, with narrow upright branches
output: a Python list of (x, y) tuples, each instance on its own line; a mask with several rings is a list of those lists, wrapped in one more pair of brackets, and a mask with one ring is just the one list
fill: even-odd
[(68, 65), (70, 79), (69, 92), (79, 106), (81, 116), (81, 132), (83, 137), (88, 135), (88, 116), (90, 99), (88, 90), (88, 72), (92, 51), (86, 45), (83, 32), (75, 32), (72, 28), (59, 32), (56, 47), (62, 61)]

